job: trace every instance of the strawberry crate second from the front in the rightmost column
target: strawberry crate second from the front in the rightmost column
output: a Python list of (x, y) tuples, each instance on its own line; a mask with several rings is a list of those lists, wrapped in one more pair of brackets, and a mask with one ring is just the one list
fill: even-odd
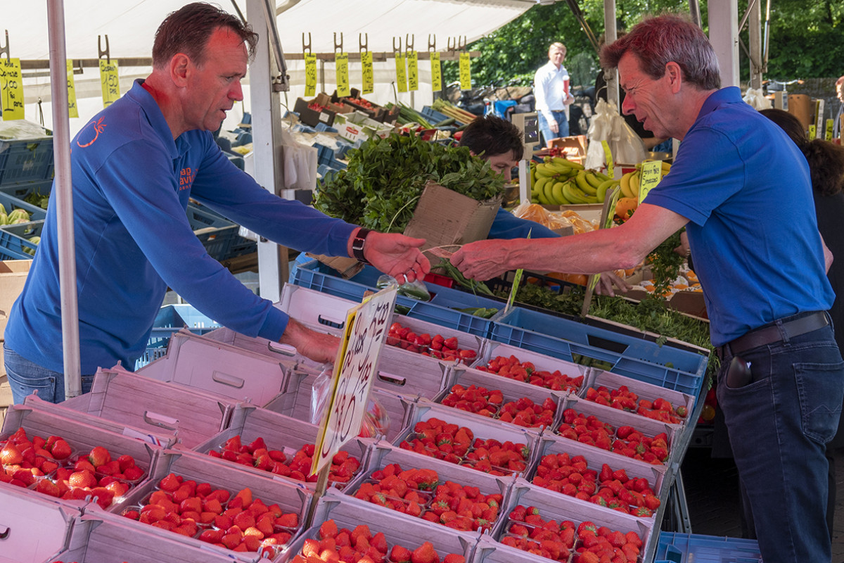
[(664, 465), (620, 457), (551, 433), (540, 438), (535, 459), (525, 479), (580, 501), (652, 517), (668, 497)]

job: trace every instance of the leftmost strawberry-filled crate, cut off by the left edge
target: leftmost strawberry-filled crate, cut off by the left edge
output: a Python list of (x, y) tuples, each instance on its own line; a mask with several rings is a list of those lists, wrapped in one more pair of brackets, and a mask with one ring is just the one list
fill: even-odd
[(149, 479), (160, 451), (83, 421), (14, 405), (0, 430), (0, 482), (68, 506), (119, 507)]

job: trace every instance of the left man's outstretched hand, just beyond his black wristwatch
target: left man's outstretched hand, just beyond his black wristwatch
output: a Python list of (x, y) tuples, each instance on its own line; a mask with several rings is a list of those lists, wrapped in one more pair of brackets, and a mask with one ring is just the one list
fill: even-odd
[(428, 258), (419, 252), (419, 246), (424, 244), (425, 239), (373, 231), (366, 237), (364, 257), (381, 272), (404, 284), (425, 278), (430, 272)]

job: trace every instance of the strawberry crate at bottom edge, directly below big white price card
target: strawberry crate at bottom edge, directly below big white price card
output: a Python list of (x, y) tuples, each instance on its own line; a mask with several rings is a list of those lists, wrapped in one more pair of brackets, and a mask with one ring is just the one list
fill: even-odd
[[(311, 528), (277, 561), (296, 561), (297, 555), (304, 556), (317, 549), (322, 554), (328, 549), (329, 552), (337, 551), (340, 558), (345, 555), (343, 560), (356, 561), (368, 555), (376, 561), (401, 561), (409, 556), (412, 560), (431, 563), (461, 563), (471, 560), (478, 535), (467, 537), (420, 518), (394, 518), (374, 506), (349, 502), (349, 498), (339, 495), (338, 491), (328, 490), (317, 503)], [(346, 546), (350, 549), (344, 549)], [(358, 556), (351, 558), (351, 549), (357, 551)]]

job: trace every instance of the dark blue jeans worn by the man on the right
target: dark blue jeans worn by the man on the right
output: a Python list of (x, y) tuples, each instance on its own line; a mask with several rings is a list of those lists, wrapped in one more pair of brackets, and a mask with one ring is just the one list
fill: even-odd
[(717, 399), (762, 559), (829, 561), (825, 444), (836, 434), (844, 399), (844, 361), (832, 328), (740, 356), (751, 363), (751, 382), (727, 386), (726, 355)]

